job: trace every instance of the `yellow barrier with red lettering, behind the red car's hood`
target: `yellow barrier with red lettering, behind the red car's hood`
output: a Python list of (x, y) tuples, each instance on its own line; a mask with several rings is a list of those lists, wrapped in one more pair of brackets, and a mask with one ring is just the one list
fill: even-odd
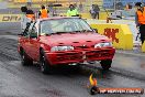
[(115, 48), (133, 50), (133, 34), (127, 24), (90, 24), (98, 29), (98, 33), (107, 35), (112, 40)]

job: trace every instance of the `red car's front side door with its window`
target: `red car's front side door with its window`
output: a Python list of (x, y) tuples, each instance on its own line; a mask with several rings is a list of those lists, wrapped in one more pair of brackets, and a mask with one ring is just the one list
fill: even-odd
[(37, 29), (35, 28), (35, 25), (33, 25), (30, 32), (30, 52), (31, 57), (33, 57), (34, 61), (40, 60), (40, 42), (37, 33)]

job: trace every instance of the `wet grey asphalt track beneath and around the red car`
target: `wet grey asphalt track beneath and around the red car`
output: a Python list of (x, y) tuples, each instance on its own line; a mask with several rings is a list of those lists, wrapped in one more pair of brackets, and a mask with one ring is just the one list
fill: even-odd
[[(91, 73), (94, 73), (99, 87), (145, 87), (144, 80), (123, 75), (123, 69), (120, 73), (116, 73), (119, 69), (104, 72), (99, 64), (96, 64), (98, 67), (90, 67), (91, 64), (82, 65), (80, 71), (69, 66), (62, 67), (56, 68), (52, 75), (44, 75), (37, 65), (27, 67), (21, 65), (16, 43), (13, 35), (0, 36), (0, 97), (91, 97), (87, 89)], [(140, 96), (99, 95), (99, 97)]]

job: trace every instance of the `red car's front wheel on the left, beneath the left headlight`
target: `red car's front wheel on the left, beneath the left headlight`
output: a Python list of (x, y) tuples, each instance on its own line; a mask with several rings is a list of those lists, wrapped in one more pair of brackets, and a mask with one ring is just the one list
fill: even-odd
[(43, 74), (49, 74), (51, 73), (51, 65), (48, 61), (46, 60), (45, 53), (42, 50), (40, 55), (40, 65), (41, 65), (41, 72)]

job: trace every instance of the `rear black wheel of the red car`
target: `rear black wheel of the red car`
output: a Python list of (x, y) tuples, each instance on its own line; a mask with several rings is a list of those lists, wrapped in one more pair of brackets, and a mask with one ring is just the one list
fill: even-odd
[(21, 64), (23, 66), (33, 65), (33, 60), (30, 58), (30, 56), (27, 56), (24, 51), (21, 51), (20, 55), (21, 55)]

